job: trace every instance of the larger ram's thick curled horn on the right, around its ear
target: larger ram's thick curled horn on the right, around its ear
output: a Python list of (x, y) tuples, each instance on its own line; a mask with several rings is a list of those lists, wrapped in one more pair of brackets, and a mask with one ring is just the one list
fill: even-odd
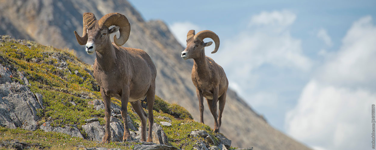
[(120, 27), (119, 28), (120, 36), (119, 38), (117, 38), (115, 35), (114, 42), (117, 46), (121, 46), (125, 42), (127, 42), (129, 38), (129, 33), (130, 33), (130, 24), (129, 24), (127, 17), (125, 17), (124, 15), (120, 13), (108, 13), (107, 15), (100, 18), (100, 20), (98, 21), (98, 24), (100, 27), (103, 27), (103, 26)]

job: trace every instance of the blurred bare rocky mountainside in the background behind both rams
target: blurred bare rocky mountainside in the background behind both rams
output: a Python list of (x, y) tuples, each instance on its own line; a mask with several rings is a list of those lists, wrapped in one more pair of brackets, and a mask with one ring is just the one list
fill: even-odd
[[(199, 120), (196, 88), (191, 81), (193, 60), (185, 61), (180, 57), (184, 48), (165, 23), (159, 20), (144, 21), (127, 1), (0, 0), (0, 34), (35, 40), (58, 48), (75, 49), (83, 61), (92, 64), (95, 55), (86, 54), (85, 46), (79, 45), (73, 34), (76, 30), (82, 35), (84, 12), (93, 12), (97, 19), (111, 12), (126, 15), (131, 31), (129, 40), (123, 46), (143, 49), (153, 58), (158, 71), (156, 95), (185, 107)], [(214, 119), (206, 104), (204, 121), (213, 127)], [(271, 127), (230, 89), (221, 132), (232, 140), (235, 147), (263, 150), (309, 149)]]

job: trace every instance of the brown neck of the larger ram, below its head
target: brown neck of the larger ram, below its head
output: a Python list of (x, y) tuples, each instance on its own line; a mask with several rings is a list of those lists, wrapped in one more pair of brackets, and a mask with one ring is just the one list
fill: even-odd
[(97, 63), (100, 66), (103, 71), (111, 71), (111, 69), (114, 69), (113, 67), (116, 65), (116, 53), (115, 48), (111, 46), (108, 49), (104, 51), (96, 51), (97, 55)]

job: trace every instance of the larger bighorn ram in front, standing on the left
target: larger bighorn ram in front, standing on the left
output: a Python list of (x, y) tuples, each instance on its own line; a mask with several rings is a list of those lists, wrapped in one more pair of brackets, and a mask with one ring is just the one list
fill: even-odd
[[(115, 26), (109, 29), (110, 26)], [(111, 43), (110, 34), (120, 31), (120, 37), (114, 36)], [(129, 37), (130, 24), (120, 13), (109, 13), (97, 20), (93, 13), (83, 13), (83, 36), (76, 31), (77, 42), (86, 45), (88, 54), (96, 54), (94, 78), (100, 86), (100, 93), (105, 104), (106, 129), (102, 142), (111, 142), (110, 116), (111, 98), (121, 100), (121, 116), (124, 122), (123, 141), (129, 141), (127, 126), (127, 104), (141, 118), (141, 141), (146, 141), (146, 113), (140, 99), (147, 98), (149, 111), (149, 134), (147, 141), (152, 141), (153, 104), (155, 99), (156, 68), (152, 58), (143, 50), (121, 47)]]

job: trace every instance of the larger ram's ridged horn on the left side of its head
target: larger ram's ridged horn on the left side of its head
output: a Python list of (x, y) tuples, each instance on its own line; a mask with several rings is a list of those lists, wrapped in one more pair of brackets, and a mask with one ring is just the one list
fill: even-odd
[(91, 27), (95, 22), (96, 18), (94, 16), (94, 13), (91, 12), (85, 12), (82, 16), (82, 22), (83, 22), (83, 29), (82, 29), (82, 36), (79, 36), (76, 31), (74, 31), (74, 35), (76, 36), (77, 42), (80, 45), (85, 45), (86, 42), (88, 42), (88, 34), (86, 33), (87, 29), (86, 26)]

